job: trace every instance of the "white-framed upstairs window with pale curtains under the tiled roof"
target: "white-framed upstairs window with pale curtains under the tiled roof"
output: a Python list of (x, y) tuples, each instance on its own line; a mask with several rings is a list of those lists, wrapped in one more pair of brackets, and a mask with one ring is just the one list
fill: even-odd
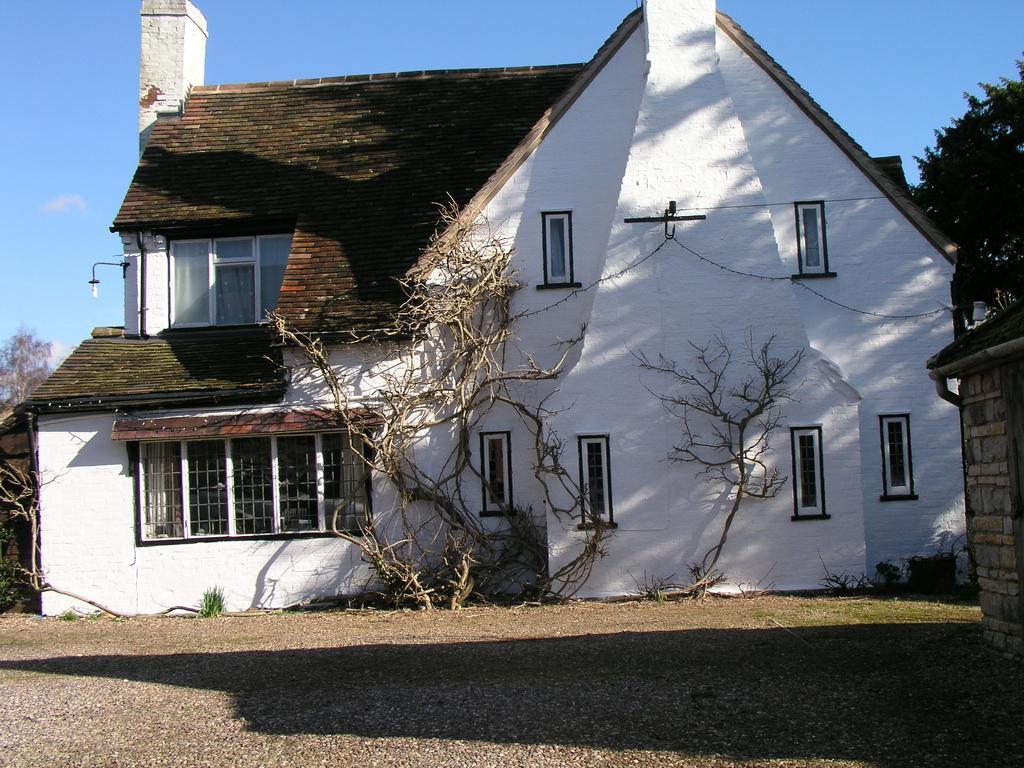
[(171, 325), (246, 326), (278, 306), (291, 234), (171, 243)]

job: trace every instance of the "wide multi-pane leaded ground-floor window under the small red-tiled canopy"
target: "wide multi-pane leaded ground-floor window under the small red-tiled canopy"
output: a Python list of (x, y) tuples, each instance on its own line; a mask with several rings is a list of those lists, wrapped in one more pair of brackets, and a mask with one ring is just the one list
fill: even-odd
[[(356, 440), (359, 443), (359, 440)], [(142, 442), (140, 543), (358, 530), (370, 472), (345, 433)]]

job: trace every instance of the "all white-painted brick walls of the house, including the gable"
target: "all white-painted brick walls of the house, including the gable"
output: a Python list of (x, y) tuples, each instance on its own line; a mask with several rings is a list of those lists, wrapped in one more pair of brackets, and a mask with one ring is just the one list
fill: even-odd
[[(563, 464), (572, 472), (578, 435), (609, 436), (618, 527), (581, 594), (623, 594), (645, 578), (685, 579), (689, 563), (717, 541), (729, 500), (692, 466), (666, 461), (679, 424), (651, 391), (669, 391), (671, 381), (642, 371), (634, 357), (664, 354), (691, 367), (689, 342), (716, 335), (730, 341), (737, 362), (749, 334), (755, 345), (774, 335), (779, 356), (804, 350), (772, 462), (792, 474), (788, 428), (820, 426), (829, 514), (792, 520), (788, 484), (773, 500), (744, 502), (721, 561), (730, 588), (814, 588), (822, 561), (834, 572), (870, 575), (881, 560), (935, 551), (963, 530), (956, 414), (934, 396), (924, 368), (929, 351), (949, 340), (948, 317), (881, 322), (791, 284), (793, 202), (828, 201), (829, 261), (839, 276), (809, 285), (838, 301), (880, 313), (929, 311), (946, 301), (950, 265), (716, 31), (710, 0), (656, 0), (647, 14), (486, 209), (492, 225), (514, 242), (523, 284), (515, 308), (535, 312), (521, 321), (514, 349), (550, 364), (560, 354), (557, 343), (587, 327), (563, 378), (522, 393), (530, 401), (549, 397), (557, 412), (551, 426), (565, 441)], [(682, 212), (707, 209), (708, 217), (678, 224), (678, 243), (654, 253), (664, 240), (660, 224), (624, 219), (658, 215), (670, 200)], [(536, 288), (543, 283), (541, 214), (556, 210), (572, 211), (575, 280), (592, 286), (578, 294)], [(125, 246), (137, 296), (137, 246), (133, 238)], [(162, 239), (147, 236), (145, 247), (153, 334), (167, 325), (168, 261)], [(782, 280), (726, 272), (692, 252)], [(138, 330), (135, 302), (126, 296), (129, 333)], [(372, 400), (378, 366), (389, 365), (381, 349), (346, 347), (333, 359), (357, 401)], [(325, 399), (315, 378), (296, 371), (283, 407)], [(881, 413), (910, 414), (918, 501), (879, 502)], [(355, 556), (332, 540), (136, 548), (132, 480), (110, 427), (110, 416), (41, 420), (43, 468), (54, 478), (43, 492), (44, 555), (54, 584), (142, 612), (194, 604), (216, 584), (236, 608), (361, 584)], [(581, 534), (575, 520), (545, 509), (526, 430), (503, 410), (481, 429), (512, 432), (514, 501), (547, 512), (551, 567), (558, 568)], [(443, 435), (425, 435), (417, 458), (429, 465), (447, 447)], [(386, 514), (393, 500), (383, 487), (377, 495), (375, 509)], [(68, 604), (51, 595), (45, 608)]]

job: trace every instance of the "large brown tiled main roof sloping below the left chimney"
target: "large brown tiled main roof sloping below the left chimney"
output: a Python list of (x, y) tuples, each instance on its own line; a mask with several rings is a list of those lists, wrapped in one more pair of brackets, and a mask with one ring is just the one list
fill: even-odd
[(303, 330), (384, 327), (438, 204), (469, 202), (581, 69), (196, 88), (155, 126), (114, 228), (294, 224), (279, 309)]

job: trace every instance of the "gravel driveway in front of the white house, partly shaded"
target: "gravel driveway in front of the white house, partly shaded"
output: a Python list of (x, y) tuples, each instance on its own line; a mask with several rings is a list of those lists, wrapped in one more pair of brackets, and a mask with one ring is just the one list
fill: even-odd
[(0, 616), (12, 766), (1024, 765), (976, 606)]

